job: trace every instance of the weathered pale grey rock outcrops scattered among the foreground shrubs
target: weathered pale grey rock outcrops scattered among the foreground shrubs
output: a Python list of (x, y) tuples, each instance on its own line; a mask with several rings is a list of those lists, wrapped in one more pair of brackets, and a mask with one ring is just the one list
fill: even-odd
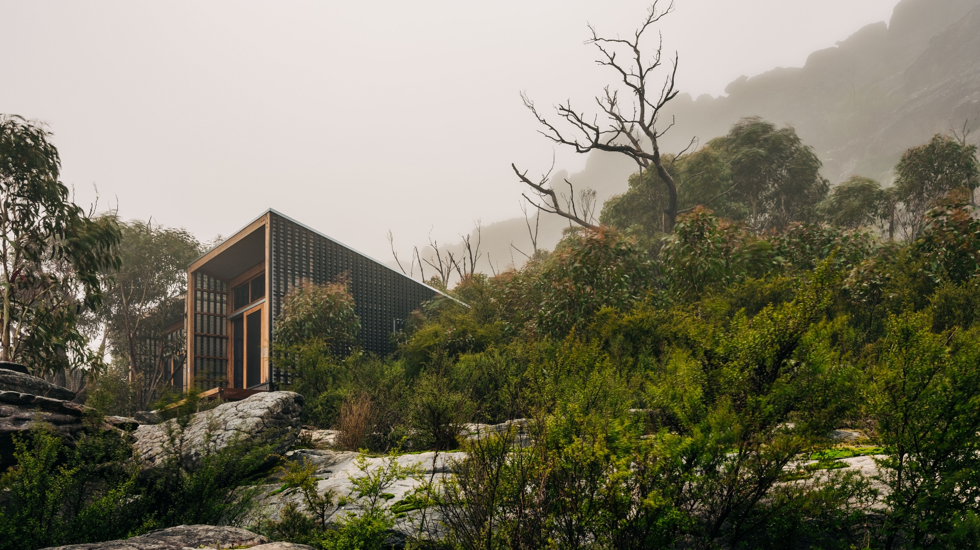
[[(247, 519), (249, 525), (278, 521), (283, 507), (289, 502), (295, 502), (300, 510), (307, 508), (303, 494), (295, 489), (286, 489), (281, 481), (290, 462), (313, 464), (316, 468), (314, 475), (318, 479), (319, 494), (332, 491), (334, 502), (337, 502), (339, 497), (352, 497), (350, 500), (356, 500), (358, 495), (354, 494), (352, 480), (363, 478), (379, 468), (385, 468), (389, 460), (394, 460), (403, 468), (414, 467), (413, 475), (404, 480), (394, 481), (384, 489), (388, 495), (387, 502), (394, 504), (413, 494), (422, 483), (441, 481), (445, 476), (450, 475), (453, 461), (465, 456), (462, 452), (438, 454), (423, 452), (404, 454), (394, 459), (366, 457), (365, 462), (359, 464), (357, 452), (328, 450), (338, 435), (336, 431), (301, 426), (303, 397), (292, 391), (257, 393), (241, 401), (221, 404), (209, 411), (192, 415), (182, 430), (174, 420), (147, 424), (147, 422), (159, 422), (159, 418), (150, 413), (140, 417), (141, 423), (123, 417), (109, 417), (104, 422), (94, 421), (93, 415), (86, 414), (90, 409), (73, 402), (74, 394), (70, 390), (32, 377), (26, 374), (25, 369), (21, 372), (18, 367), (12, 364), (0, 364), (0, 453), (2, 453), (0, 467), (6, 468), (8, 465), (6, 463), (12, 463), (12, 435), (25, 434), (36, 422), (47, 424), (58, 434), (63, 435), (70, 445), (86, 430), (112, 431), (121, 436), (131, 437), (135, 441), (134, 452), (144, 460), (147, 468), (158, 466), (172, 453), (178, 453), (183, 464), (193, 469), (199, 464), (204, 453), (220, 450), (235, 440), (259, 438), (278, 441), (276, 452), (284, 455), (287, 462), (283, 468), (271, 471), (264, 481), (252, 487), (257, 494), (256, 506)], [(100, 424), (96, 426), (95, 422)], [(531, 441), (528, 432), (529, 422), (527, 419), (517, 419), (498, 425), (469, 424), (463, 427), (463, 436), (474, 439), (510, 431), (514, 436), (513, 443), (523, 446)], [(835, 431), (831, 437), (847, 445), (866, 442), (863, 435), (849, 430)], [(296, 443), (319, 448), (288, 450)], [(846, 463), (847, 467), (834, 472), (860, 472), (865, 478), (871, 479), (879, 474), (874, 458), (857, 456), (839, 459)], [(827, 475), (819, 472), (823, 471), (817, 471), (817, 478)], [(873, 481), (872, 485), (879, 489), (879, 494), (885, 494), (887, 487), (883, 483)], [(337, 505), (329, 511), (326, 520), (337, 521), (347, 513), (357, 512), (356, 503)], [(439, 524), (437, 511), (429, 509), (424, 514), (426, 530), (430, 531), (430, 534), (439, 534), (442, 527)], [(404, 544), (407, 537), (417, 531), (421, 516), (422, 512), (419, 510), (399, 514), (389, 542), (397, 546), (401, 545), (399, 543)], [(126, 540), (76, 544), (59, 548), (184, 550), (232, 547), (264, 550), (309, 548), (296, 544), (270, 543), (266, 537), (245, 529), (210, 526), (171, 527)]]

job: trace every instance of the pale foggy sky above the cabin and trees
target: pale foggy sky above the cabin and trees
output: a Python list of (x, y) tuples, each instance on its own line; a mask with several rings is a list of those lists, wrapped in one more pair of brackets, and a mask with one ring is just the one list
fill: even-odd
[[(676, 0), (662, 20), (683, 92), (800, 67), (896, 0)], [(661, 2), (660, 7), (665, 4)], [(521, 215), (531, 173), (584, 156), (539, 107), (591, 110), (613, 81), (584, 43), (647, 1), (0, 0), (0, 113), (48, 124), (75, 201), (229, 235), (273, 207), (387, 261)], [(651, 43), (653, 45), (653, 42)]]

